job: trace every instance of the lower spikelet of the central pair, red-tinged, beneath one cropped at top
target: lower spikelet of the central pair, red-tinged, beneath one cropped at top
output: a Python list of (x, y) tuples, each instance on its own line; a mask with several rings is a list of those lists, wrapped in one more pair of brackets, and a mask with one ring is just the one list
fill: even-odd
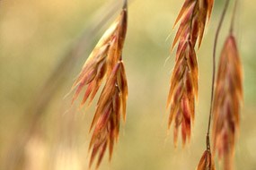
[[(188, 57), (188, 58), (187, 58)], [(178, 130), (181, 126), (183, 145), (190, 139), (191, 120), (194, 119), (194, 100), (197, 95), (198, 64), (194, 48), (190, 42), (184, 45), (184, 50), (176, 60), (172, 72), (171, 88), (168, 104), (171, 103), (169, 128), (174, 119), (174, 143), (177, 143)]]

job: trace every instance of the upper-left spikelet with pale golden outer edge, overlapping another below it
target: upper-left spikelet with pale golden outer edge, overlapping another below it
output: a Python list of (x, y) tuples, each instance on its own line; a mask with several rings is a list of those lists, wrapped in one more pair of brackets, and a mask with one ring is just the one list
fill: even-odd
[(86, 60), (82, 71), (71, 90), (75, 89), (72, 103), (86, 86), (81, 106), (90, 97), (89, 104), (102, 84), (105, 76), (109, 76), (114, 65), (119, 61), (127, 31), (127, 9), (123, 9), (119, 17), (103, 34), (93, 52)]

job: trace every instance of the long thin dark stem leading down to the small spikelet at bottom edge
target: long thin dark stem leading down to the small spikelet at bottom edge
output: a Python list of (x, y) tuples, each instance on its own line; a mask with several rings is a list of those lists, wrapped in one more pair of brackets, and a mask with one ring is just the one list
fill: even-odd
[(217, 26), (216, 37), (215, 37), (215, 42), (214, 42), (214, 49), (213, 49), (213, 72), (212, 72), (211, 103), (210, 103), (208, 127), (207, 127), (207, 150), (209, 152), (210, 152), (209, 132), (210, 132), (210, 126), (211, 126), (212, 107), (213, 107), (214, 89), (215, 89), (215, 77), (216, 77), (216, 44), (217, 44), (217, 39), (218, 39), (218, 36), (219, 36), (219, 32), (221, 30), (223, 21), (225, 19), (225, 13), (227, 11), (227, 7), (228, 7), (229, 2), (230, 2), (230, 0), (225, 1), (225, 6), (224, 6), (223, 12), (221, 14), (220, 21), (219, 21), (218, 26)]

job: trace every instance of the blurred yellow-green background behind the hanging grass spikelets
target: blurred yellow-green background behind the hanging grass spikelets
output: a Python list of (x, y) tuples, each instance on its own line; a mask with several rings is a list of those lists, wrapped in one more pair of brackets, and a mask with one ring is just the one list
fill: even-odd
[[(233, 1), (232, 1), (233, 2)], [(183, 1), (133, 0), (128, 9), (124, 62), (127, 122), (120, 126), (112, 161), (100, 169), (195, 169), (205, 146), (212, 48), (224, 5), (216, 0), (199, 58), (199, 102), (190, 145), (174, 149), (165, 109), (174, 53), (172, 24)], [(0, 1), (0, 169), (88, 169), (92, 106), (78, 109), (69, 95), (87, 56), (118, 15), (121, 1)], [(231, 3), (218, 41), (229, 29)], [(235, 169), (256, 169), (255, 1), (239, 2), (235, 34), (244, 72), (244, 102)], [(170, 35), (170, 36), (169, 36)], [(169, 38), (168, 38), (169, 36)], [(170, 57), (169, 57), (170, 56)], [(216, 161), (216, 166), (219, 167)]]

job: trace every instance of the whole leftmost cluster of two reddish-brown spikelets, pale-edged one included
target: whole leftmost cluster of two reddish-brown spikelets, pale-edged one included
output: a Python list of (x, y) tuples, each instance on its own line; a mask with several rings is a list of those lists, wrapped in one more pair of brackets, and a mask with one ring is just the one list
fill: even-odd
[(120, 116), (126, 117), (126, 103), (128, 98), (128, 83), (122, 62), (122, 49), (127, 32), (128, 10), (127, 1), (116, 21), (112, 23), (93, 52), (84, 64), (72, 89), (75, 89), (72, 102), (78, 97), (81, 90), (86, 87), (81, 106), (90, 98), (92, 102), (95, 94), (102, 85), (104, 78), (106, 83), (98, 100), (96, 111), (91, 124), (93, 136), (89, 150), (92, 149), (89, 166), (91, 167), (98, 155), (98, 168), (102, 157), (109, 147), (110, 159), (114, 143), (119, 138)]

